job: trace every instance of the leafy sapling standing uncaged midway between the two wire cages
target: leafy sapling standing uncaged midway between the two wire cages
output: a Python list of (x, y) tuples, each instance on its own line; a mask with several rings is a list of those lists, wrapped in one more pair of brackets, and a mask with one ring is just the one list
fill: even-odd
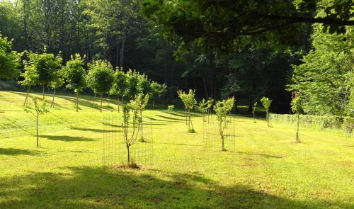
[(184, 103), (185, 107), (185, 124), (188, 125), (188, 131), (189, 132), (195, 132), (193, 128), (193, 123), (192, 119), (190, 118), (190, 111), (193, 110), (193, 108), (197, 104), (197, 100), (195, 99), (195, 90), (189, 89), (188, 93), (185, 93), (184, 91), (177, 91), (178, 97), (181, 98), (181, 100)]

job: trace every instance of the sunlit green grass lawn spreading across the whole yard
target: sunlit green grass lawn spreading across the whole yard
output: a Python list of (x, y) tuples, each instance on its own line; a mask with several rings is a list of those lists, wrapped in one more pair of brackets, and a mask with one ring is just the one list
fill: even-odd
[(76, 113), (72, 96), (40, 118), (35, 148), (24, 94), (0, 91), (0, 208), (354, 208), (351, 137), (301, 128), (295, 144), (295, 127), (239, 115), (235, 151), (206, 151), (200, 115), (188, 133), (182, 112), (147, 110), (154, 162), (105, 169), (103, 115), (117, 106), (82, 96)]

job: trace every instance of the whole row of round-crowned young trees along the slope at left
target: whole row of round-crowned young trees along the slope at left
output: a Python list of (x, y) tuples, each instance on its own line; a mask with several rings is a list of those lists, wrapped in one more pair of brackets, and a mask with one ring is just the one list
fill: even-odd
[[(52, 104), (55, 105), (55, 91), (64, 84), (67, 89), (72, 89), (76, 94), (76, 111), (79, 111), (79, 94), (84, 89), (91, 89), (95, 94), (117, 96), (123, 102), (123, 98), (135, 98), (137, 94), (148, 94), (153, 100), (159, 98), (166, 91), (166, 84), (158, 84), (150, 81), (145, 74), (139, 74), (135, 70), (129, 69), (124, 72), (123, 69), (113, 70), (110, 62), (106, 60), (94, 60), (85, 64), (85, 57), (79, 54), (72, 55), (71, 59), (65, 65), (62, 65), (61, 55), (53, 55), (43, 52), (42, 54), (28, 52), (28, 60), (23, 62), (24, 72), (20, 84), (26, 86), (27, 94), (24, 104), (28, 103), (28, 93), (31, 86), (42, 86), (42, 97), (45, 99), (45, 87), (50, 86), (53, 89)], [(87, 69), (87, 71), (86, 71)], [(119, 111), (119, 105), (118, 105)]]

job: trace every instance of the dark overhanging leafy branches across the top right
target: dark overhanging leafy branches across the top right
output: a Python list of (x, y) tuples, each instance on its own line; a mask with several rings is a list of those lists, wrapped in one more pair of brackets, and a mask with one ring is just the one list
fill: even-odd
[(353, 1), (143, 0), (142, 13), (181, 47), (231, 51), (249, 43), (291, 45), (304, 25), (324, 23), (331, 32), (353, 26)]

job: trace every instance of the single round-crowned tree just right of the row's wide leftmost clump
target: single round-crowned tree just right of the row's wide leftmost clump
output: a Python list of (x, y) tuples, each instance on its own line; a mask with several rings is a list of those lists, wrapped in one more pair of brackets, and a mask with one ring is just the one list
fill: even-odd
[(84, 58), (79, 54), (72, 55), (71, 60), (64, 67), (64, 77), (67, 81), (67, 88), (73, 89), (76, 94), (76, 112), (79, 111), (79, 93), (86, 87), (86, 71), (84, 69)]

